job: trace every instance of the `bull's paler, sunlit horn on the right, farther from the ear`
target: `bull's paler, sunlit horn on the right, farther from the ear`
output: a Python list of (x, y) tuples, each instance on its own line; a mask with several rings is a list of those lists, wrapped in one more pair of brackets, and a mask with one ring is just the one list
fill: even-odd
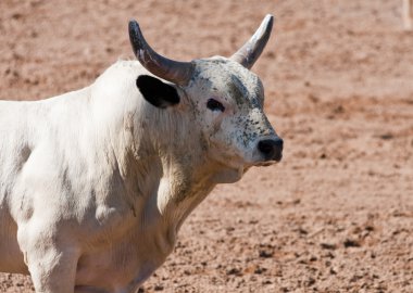
[(230, 60), (238, 62), (243, 67), (250, 69), (261, 55), (273, 29), (274, 17), (267, 14), (262, 21), (255, 34), (239, 49)]

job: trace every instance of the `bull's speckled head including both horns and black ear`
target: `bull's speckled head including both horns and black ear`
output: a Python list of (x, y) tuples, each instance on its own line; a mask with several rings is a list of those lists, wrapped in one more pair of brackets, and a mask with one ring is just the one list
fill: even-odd
[(264, 89), (250, 68), (262, 53), (273, 27), (267, 15), (246, 44), (229, 59), (214, 56), (177, 62), (154, 52), (146, 42), (137, 22), (129, 23), (129, 36), (139, 62), (154, 76), (138, 77), (145, 99), (158, 107), (186, 101), (196, 115), (206, 155), (239, 179), (254, 165), (271, 165), (281, 160), (283, 140), (263, 112)]

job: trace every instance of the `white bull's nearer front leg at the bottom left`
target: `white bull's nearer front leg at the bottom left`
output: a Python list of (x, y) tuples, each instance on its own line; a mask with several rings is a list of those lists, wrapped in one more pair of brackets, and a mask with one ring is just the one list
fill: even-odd
[(18, 229), (18, 242), (36, 293), (74, 293), (79, 254), (60, 232), (33, 225)]

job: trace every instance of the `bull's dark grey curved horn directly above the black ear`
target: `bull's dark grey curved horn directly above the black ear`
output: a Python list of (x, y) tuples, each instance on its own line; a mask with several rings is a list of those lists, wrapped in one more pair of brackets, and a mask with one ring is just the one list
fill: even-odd
[(186, 86), (189, 82), (193, 65), (190, 62), (170, 60), (153, 51), (135, 20), (129, 22), (129, 40), (136, 58), (150, 73), (179, 86)]

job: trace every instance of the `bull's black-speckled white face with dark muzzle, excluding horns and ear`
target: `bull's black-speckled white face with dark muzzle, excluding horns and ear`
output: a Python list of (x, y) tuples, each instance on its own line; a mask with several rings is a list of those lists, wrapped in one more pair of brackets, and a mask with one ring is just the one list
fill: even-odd
[(279, 161), (283, 140), (263, 112), (264, 89), (259, 77), (223, 58), (195, 64), (186, 92), (193, 101), (210, 156), (242, 170)]

